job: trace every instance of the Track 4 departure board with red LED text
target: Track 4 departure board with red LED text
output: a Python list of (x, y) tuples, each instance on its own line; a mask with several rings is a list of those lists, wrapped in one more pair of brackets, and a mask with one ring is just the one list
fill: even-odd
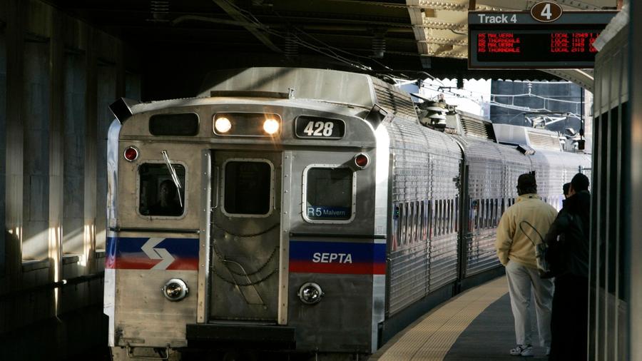
[(471, 12), (469, 68), (592, 68), (593, 42), (614, 14), (564, 13), (542, 24), (529, 12)]

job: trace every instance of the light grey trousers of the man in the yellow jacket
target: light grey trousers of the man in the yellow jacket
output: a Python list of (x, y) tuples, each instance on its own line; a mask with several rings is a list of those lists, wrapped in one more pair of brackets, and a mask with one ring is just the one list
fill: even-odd
[(531, 342), (531, 287), (535, 296), (535, 311), (539, 343), (551, 346), (551, 307), (553, 305), (554, 284), (552, 279), (541, 279), (535, 268), (516, 262), (506, 264), (506, 278), (509, 284), (511, 309), (515, 318), (515, 338), (517, 345), (532, 345)]

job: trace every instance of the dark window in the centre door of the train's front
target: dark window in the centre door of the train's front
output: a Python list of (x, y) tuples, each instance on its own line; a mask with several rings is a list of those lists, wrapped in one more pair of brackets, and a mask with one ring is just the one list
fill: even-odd
[(223, 207), (227, 215), (265, 216), (272, 210), (272, 165), (229, 160), (224, 168)]

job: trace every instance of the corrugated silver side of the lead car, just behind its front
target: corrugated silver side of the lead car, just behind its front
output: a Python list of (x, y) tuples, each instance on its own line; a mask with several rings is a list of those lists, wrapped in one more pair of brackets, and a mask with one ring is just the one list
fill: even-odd
[[(392, 206), (424, 202), (422, 225), (427, 228), (428, 213), (433, 212), (428, 210), (428, 205), (434, 207), (437, 199), (452, 200), (452, 203), (457, 199), (461, 150), (453, 138), (419, 127), (414, 121), (396, 118), (387, 124), (387, 130), (392, 153)], [(389, 234), (397, 235), (399, 226), (393, 221)], [(389, 315), (457, 276), (454, 229), (440, 238), (428, 238), (427, 229), (419, 235), (415, 231), (404, 233), (398, 239), (390, 238)]]

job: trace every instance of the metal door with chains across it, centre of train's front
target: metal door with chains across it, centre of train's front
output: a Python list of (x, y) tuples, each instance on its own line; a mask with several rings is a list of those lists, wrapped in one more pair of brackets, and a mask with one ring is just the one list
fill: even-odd
[(281, 153), (213, 152), (210, 320), (275, 321)]

